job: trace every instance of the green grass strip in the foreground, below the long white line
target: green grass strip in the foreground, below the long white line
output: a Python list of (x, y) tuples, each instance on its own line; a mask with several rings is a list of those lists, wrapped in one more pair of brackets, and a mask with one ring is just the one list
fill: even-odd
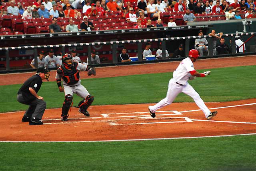
[(100, 143), (1, 143), (1, 169), (253, 170), (256, 136)]

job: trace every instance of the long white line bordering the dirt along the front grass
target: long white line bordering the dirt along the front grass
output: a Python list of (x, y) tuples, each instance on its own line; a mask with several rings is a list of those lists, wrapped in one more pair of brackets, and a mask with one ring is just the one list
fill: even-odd
[(147, 139), (113, 139), (113, 140), (94, 140), (94, 141), (0, 141), (0, 143), (94, 143), (94, 142), (115, 142), (115, 141), (148, 141), (148, 140), (169, 140), (169, 139), (194, 139), (194, 138), (214, 138), (214, 137), (233, 137), (256, 135), (256, 133), (232, 134), (232, 135), (212, 135), (198, 137), (173, 137), (173, 138), (147, 138)]

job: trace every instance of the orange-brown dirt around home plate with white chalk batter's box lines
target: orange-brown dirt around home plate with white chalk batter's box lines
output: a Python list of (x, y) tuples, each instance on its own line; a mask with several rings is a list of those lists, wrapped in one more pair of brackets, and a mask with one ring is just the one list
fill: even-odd
[(255, 102), (206, 103), (217, 108), (212, 109), (218, 111), (212, 121), (206, 120), (195, 103), (173, 103), (156, 112), (155, 119), (149, 115), (149, 104), (92, 106), (90, 117), (72, 108), (67, 122), (60, 120), (61, 109), (47, 109), (44, 125), (33, 126), (21, 122), (24, 112), (2, 113), (0, 140), (92, 141), (256, 133)]

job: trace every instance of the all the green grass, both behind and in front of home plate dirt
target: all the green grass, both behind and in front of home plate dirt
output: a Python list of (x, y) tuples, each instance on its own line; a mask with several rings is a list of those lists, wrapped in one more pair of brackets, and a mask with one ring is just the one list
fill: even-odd
[[(139, 66), (138, 66), (139, 67)], [(190, 84), (204, 101), (256, 98), (256, 66), (211, 69)], [(172, 73), (82, 80), (93, 105), (156, 103), (166, 95)], [(21, 85), (0, 86), (0, 112), (27, 108), (16, 101)], [(44, 82), (47, 107), (61, 107), (64, 93)], [(80, 97), (74, 97), (74, 104)], [(192, 102), (180, 94), (176, 102)], [(214, 129), (218, 129), (214, 127)], [(154, 130), (152, 130), (154, 131)], [(255, 171), (256, 136), (98, 143), (0, 143), (0, 171)]]

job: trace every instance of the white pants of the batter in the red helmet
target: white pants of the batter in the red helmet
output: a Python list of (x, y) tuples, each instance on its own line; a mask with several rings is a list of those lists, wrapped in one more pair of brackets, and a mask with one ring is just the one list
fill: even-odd
[(196, 105), (198, 105), (198, 107), (204, 112), (205, 117), (208, 117), (208, 115), (210, 115), (211, 111), (204, 104), (204, 101), (201, 99), (200, 95), (194, 90), (194, 88), (190, 84), (188, 84), (188, 82), (186, 85), (183, 86), (176, 84), (176, 81), (173, 78), (169, 81), (166, 97), (159, 101), (156, 105), (149, 106), (149, 109), (152, 112), (155, 112), (166, 105), (170, 105), (180, 92), (192, 97), (196, 102)]

